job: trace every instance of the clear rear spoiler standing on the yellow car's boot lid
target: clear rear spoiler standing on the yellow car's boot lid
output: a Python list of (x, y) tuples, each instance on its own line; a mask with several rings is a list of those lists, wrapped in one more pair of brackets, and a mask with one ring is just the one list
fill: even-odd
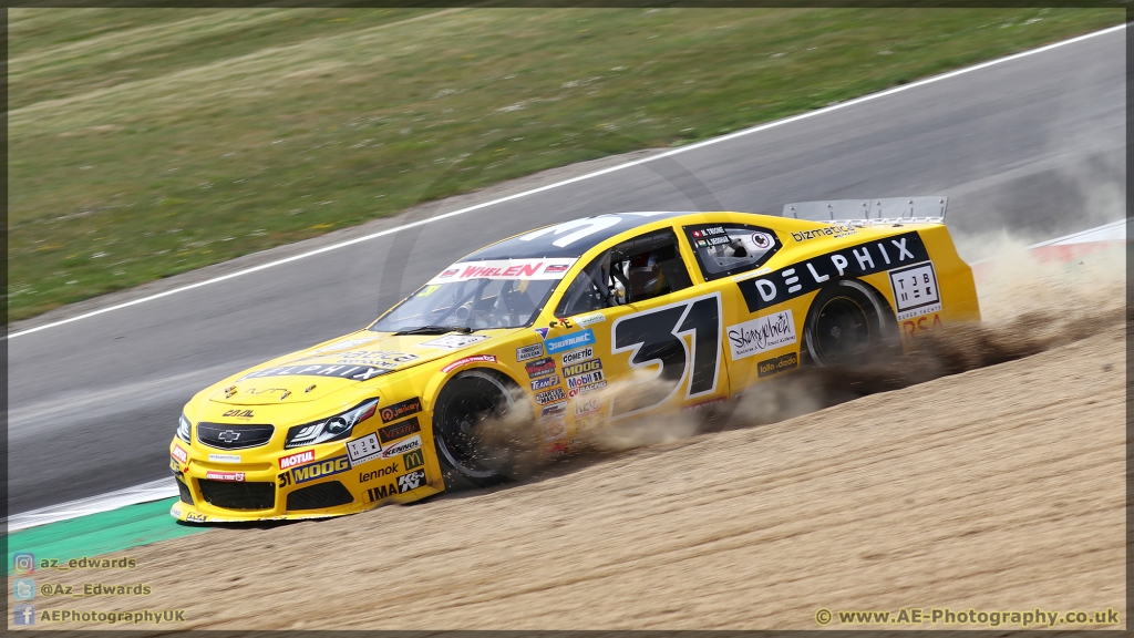
[(796, 202), (784, 207), (784, 217), (848, 226), (945, 224), (945, 209), (948, 203), (949, 198), (939, 195)]

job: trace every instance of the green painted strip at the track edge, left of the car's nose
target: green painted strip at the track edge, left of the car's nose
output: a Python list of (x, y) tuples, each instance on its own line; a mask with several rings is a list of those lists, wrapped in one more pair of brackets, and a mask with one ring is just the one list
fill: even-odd
[(11, 555), (16, 552), (32, 552), (36, 561), (58, 559), (62, 562), (209, 531), (209, 528), (178, 524), (169, 515), (169, 509), (176, 502), (175, 497), (127, 505), (9, 534), (8, 574), (12, 573)]

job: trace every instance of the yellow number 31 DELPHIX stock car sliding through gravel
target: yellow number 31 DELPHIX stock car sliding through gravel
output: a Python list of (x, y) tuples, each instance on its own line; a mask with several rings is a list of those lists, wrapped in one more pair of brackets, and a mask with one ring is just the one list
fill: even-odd
[(503, 240), (365, 329), (197, 393), (169, 447), (170, 513), (320, 518), (485, 485), (509, 446), (561, 455), (624, 419), (979, 320), (945, 204), (627, 212)]

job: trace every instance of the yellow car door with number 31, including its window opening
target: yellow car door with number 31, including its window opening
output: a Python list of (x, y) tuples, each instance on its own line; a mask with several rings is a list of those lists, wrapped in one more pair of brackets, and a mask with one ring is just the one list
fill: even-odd
[(567, 287), (544, 347), (576, 430), (728, 396), (721, 297), (695, 286), (670, 227), (603, 251)]

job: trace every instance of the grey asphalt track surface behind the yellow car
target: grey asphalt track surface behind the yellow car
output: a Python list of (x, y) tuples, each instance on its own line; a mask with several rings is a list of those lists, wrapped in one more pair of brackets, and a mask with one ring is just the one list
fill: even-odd
[[(1126, 32), (1119, 30), (22, 335), (8, 343), (8, 511), (166, 477), (177, 415), (195, 392), (247, 366), (362, 328), (380, 308), (462, 254), (532, 227), (604, 212), (778, 212), (793, 201), (909, 194), (949, 196), (949, 226), (960, 237), (1005, 229), (1038, 241), (1120, 218), (1125, 94)], [(395, 227), (578, 173), (577, 167), (550, 171), (353, 233)], [(240, 263), (303, 249), (285, 246)], [(226, 268), (232, 266), (206, 270)], [(82, 308), (110, 305), (130, 294)], [(65, 309), (52, 318), (68, 311), (76, 312)]]

